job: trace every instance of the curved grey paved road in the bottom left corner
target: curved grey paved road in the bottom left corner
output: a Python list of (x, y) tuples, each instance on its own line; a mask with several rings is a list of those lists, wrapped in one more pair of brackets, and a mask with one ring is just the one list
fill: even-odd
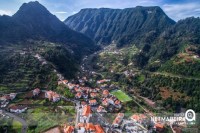
[(2, 110), (2, 113), (9, 117), (14, 118), (14, 120), (16, 120), (16, 121), (19, 121), (22, 124), (22, 133), (27, 132), (28, 124), (26, 123), (26, 121), (24, 119), (20, 118), (19, 116), (15, 115), (13, 113), (7, 112), (5, 110)]

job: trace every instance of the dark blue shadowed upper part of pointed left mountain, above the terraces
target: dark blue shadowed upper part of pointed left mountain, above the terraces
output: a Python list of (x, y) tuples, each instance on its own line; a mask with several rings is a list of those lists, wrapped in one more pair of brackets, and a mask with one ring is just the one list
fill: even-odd
[[(0, 17), (0, 43), (28, 39), (62, 43), (80, 55), (95, 50), (94, 42), (81, 33), (68, 28), (39, 2), (24, 3), (12, 16)], [(81, 50), (80, 50), (81, 47)]]

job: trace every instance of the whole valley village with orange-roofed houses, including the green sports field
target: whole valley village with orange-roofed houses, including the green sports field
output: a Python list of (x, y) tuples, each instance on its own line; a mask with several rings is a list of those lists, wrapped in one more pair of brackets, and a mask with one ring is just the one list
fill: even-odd
[[(94, 55), (96, 54), (98, 53), (94, 53)], [(40, 55), (36, 54), (35, 57), (42, 64), (47, 63)], [(86, 56), (83, 61), (89, 60), (89, 58)], [(35, 105), (31, 102), (38, 101), (39, 99), (41, 100), (39, 101), (41, 102), (40, 106), (46, 106), (51, 103), (50, 106), (62, 108), (63, 104), (57, 105), (57, 103), (69, 102), (71, 106), (75, 107), (75, 116), (73, 116), (75, 119), (72, 119), (70, 122), (64, 122), (60, 126), (60, 132), (64, 133), (147, 133), (162, 132), (166, 129), (166, 126), (173, 128), (173, 123), (166, 123), (160, 120), (152, 121), (151, 117), (154, 114), (138, 103), (135, 97), (129, 96), (119, 86), (113, 84), (111, 79), (91, 79), (92, 76), (100, 74), (89, 68), (87, 63), (83, 63), (81, 69), (83, 74), (77, 76), (77, 79), (72, 80), (64, 80), (62, 74), (54, 70), (59, 79), (57, 86), (63, 89), (62, 92), (59, 92), (57, 89), (34, 88), (28, 92), (0, 95), (1, 117), (10, 116), (18, 120), (20, 119), (19, 121), (25, 124), (22, 129), (22, 132), (25, 133), (28, 130), (28, 124), (25, 120), (21, 120), (23, 115), (20, 114), (26, 114), (27, 110), (34, 108)], [(124, 74), (126, 76), (134, 75), (132, 71), (125, 71)], [(88, 85), (91, 82), (93, 85)], [(70, 93), (71, 96), (66, 96), (64, 93)], [(19, 95), (21, 100), (23, 99), (22, 102), (18, 102), (17, 96)], [(144, 97), (138, 98), (150, 103), (152, 107), (155, 106), (155, 103), (149, 101), (149, 99)], [(15, 102), (13, 103), (13, 101)], [(129, 110), (127, 110), (125, 109), (127, 108), (127, 103), (135, 104), (132, 104), (128, 107)], [(140, 108), (142, 111), (135, 110), (132, 112), (135, 106), (138, 106), (137, 108)], [(185, 121), (182, 123), (185, 124)]]

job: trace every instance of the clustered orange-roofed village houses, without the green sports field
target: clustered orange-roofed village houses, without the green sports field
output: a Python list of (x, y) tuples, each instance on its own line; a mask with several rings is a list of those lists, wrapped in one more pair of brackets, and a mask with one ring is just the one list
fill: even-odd
[[(73, 102), (76, 106), (76, 120), (74, 125), (64, 124), (64, 133), (137, 133), (162, 131), (164, 129), (164, 123), (152, 122), (148, 114), (134, 113), (127, 116), (126, 112), (120, 112), (122, 111), (124, 103), (110, 93), (111, 90), (118, 90), (118, 88), (107, 84), (110, 82), (110, 79), (96, 81), (96, 88), (86, 87), (86, 81), (88, 81), (86, 77), (80, 78), (76, 84), (74, 81), (58, 81), (58, 85), (66, 86), (66, 88), (75, 95), (72, 99), (66, 98), (55, 91), (41, 90), (39, 88), (35, 88), (25, 95), (29, 98), (42, 96), (53, 103), (61, 99), (67, 99)], [(9, 103), (12, 102), (16, 96), (17, 93), (3, 95), (0, 98), (1, 108), (16, 115), (24, 113), (31, 108), (26, 105), (17, 104), (9, 106)], [(110, 121), (108, 116), (112, 116), (113, 120)]]

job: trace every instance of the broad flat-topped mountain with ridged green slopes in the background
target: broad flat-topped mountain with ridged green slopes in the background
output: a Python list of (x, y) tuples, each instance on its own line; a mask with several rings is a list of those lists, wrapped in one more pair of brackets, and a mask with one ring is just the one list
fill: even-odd
[(175, 24), (160, 7), (141, 6), (127, 9), (82, 9), (64, 22), (99, 44), (115, 41), (118, 46), (140, 42), (149, 34), (158, 36)]

